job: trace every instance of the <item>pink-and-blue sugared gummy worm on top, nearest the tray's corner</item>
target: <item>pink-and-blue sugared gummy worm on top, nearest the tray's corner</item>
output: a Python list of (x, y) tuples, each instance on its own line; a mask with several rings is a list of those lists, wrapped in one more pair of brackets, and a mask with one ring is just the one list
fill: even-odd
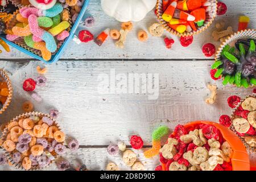
[(56, 51), (57, 45), (55, 39), (49, 32), (43, 30), (38, 26), (38, 18), (35, 15), (30, 15), (30, 17), (28, 17), (28, 25), (30, 26), (30, 31), (33, 35), (46, 42), (46, 48), (48, 49), (48, 51)]

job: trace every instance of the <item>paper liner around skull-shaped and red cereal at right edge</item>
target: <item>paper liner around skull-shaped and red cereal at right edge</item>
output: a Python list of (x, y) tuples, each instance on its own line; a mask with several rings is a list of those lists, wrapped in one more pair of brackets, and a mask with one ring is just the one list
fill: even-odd
[[(243, 99), (237, 104), (237, 106), (233, 109), (233, 112), (232, 112), (232, 115), (231, 115), (232, 121), (233, 121), (233, 119), (239, 118), (237, 115), (235, 115), (235, 111), (238, 109), (238, 107), (241, 106), (242, 102), (245, 101), (246, 98), (248, 98), (248, 97), (254, 97), (254, 98), (255, 98), (255, 97), (256, 97), (256, 94), (253, 94), (253, 95), (250, 95), (250, 96), (246, 96), (245, 98), (243, 98)], [(230, 126), (230, 130), (232, 130), (232, 131), (242, 140), (242, 142), (243, 142), (243, 144), (245, 145), (245, 147), (246, 147), (247, 150), (249, 150), (249, 151), (252, 152), (252, 153), (256, 153), (256, 147), (251, 147), (251, 146), (249, 146), (249, 144), (246, 143), (245, 138), (243, 138), (243, 137), (241, 137), (240, 135), (237, 134), (237, 131), (236, 131), (236, 129), (235, 129), (234, 126), (233, 126), (233, 123), (232, 123), (232, 125)]]

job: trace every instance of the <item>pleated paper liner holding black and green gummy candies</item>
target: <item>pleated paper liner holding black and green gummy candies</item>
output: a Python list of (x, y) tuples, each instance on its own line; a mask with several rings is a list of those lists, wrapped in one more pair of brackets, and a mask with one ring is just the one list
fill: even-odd
[[(228, 44), (232, 44), (238, 39), (256, 39), (256, 30), (255, 29), (248, 29), (248, 30), (242, 30), (238, 31), (232, 35), (229, 35), (228, 38), (221, 43), (220, 47), (218, 47), (218, 50), (215, 55), (215, 61), (218, 61), (221, 59), (221, 52), (224, 49), (224, 47)], [(224, 79), (225, 77), (222, 77)], [(233, 86), (236, 86), (233, 84)], [(253, 87), (254, 85), (250, 84), (250, 87)]]

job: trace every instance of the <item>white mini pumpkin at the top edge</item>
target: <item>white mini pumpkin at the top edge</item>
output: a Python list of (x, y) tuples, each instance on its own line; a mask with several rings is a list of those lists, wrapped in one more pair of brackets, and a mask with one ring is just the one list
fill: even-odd
[(101, 7), (119, 22), (138, 22), (151, 11), (157, 0), (101, 0)]

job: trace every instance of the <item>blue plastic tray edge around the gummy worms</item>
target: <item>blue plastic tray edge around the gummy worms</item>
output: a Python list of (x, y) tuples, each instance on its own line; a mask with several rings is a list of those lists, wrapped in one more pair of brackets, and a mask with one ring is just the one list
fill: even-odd
[(27, 55), (34, 57), (35, 59), (38, 59), (40, 61), (43, 61), (46, 64), (52, 64), (55, 63), (57, 60), (60, 59), (61, 54), (63, 53), (65, 47), (67, 46), (67, 44), (69, 43), (69, 41), (73, 38), (73, 35), (75, 34), (76, 28), (79, 26), (79, 22), (82, 19), (82, 16), (84, 15), (86, 8), (89, 4), (90, 0), (85, 0), (84, 5), (82, 6), (82, 9), (79, 13), (79, 16), (77, 17), (77, 20), (75, 22), (75, 24), (73, 24), (73, 27), (71, 29), (71, 31), (69, 32), (69, 36), (68, 38), (65, 40), (65, 42), (61, 45), (61, 47), (59, 48), (59, 51), (57, 53), (55, 53), (55, 55), (52, 55), (51, 59), (49, 61), (45, 61), (42, 57), (35, 55), (34, 53), (27, 51), (26, 49), (19, 47), (18, 45), (14, 44), (13, 42), (10, 42), (9, 40), (6, 39), (5, 35), (0, 35), (0, 37), (5, 40), (5, 42), (7, 44), (9, 44), (10, 46), (13, 46), (14, 48), (18, 49), (21, 52), (26, 53)]

